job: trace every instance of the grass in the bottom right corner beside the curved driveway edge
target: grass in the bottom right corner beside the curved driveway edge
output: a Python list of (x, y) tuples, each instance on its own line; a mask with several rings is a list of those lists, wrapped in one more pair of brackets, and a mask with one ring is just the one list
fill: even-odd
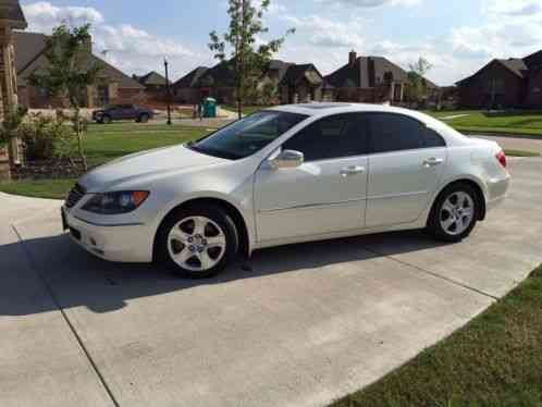
[(542, 406), (542, 267), (464, 329), (332, 407)]

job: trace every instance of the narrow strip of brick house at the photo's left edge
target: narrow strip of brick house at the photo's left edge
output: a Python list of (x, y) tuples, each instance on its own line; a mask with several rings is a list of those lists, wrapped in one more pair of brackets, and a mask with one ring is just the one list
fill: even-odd
[[(21, 4), (17, 0), (0, 0), (0, 121), (7, 111), (19, 103), (17, 76), (15, 70), (16, 45), (13, 29), (26, 28)], [(10, 177), (10, 166), (21, 160), (17, 140), (0, 147), (0, 178)]]

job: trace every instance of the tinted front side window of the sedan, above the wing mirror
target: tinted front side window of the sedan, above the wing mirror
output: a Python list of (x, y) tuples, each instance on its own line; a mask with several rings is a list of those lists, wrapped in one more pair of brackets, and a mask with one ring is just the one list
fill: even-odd
[(328, 160), (366, 155), (366, 119), (361, 114), (337, 114), (315, 122), (282, 148), (305, 155), (305, 161)]

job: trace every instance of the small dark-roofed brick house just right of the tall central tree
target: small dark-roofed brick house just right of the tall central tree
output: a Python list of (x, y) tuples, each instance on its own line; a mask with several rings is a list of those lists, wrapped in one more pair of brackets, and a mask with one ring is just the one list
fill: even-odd
[(323, 76), (311, 63), (290, 64), (279, 88), (283, 104), (325, 99)]

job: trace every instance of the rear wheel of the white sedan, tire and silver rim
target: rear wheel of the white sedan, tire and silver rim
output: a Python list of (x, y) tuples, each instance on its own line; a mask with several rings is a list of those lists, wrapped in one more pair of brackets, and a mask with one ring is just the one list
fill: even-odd
[(481, 202), (468, 184), (453, 184), (436, 198), (427, 232), (438, 240), (458, 243), (468, 237), (480, 219)]

